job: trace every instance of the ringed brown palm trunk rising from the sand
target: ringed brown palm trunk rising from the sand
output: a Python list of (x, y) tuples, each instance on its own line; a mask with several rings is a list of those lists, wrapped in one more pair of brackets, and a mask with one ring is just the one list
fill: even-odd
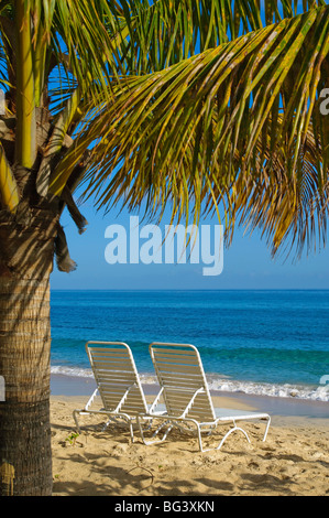
[(51, 495), (50, 273), (58, 219), (0, 212), (0, 495)]

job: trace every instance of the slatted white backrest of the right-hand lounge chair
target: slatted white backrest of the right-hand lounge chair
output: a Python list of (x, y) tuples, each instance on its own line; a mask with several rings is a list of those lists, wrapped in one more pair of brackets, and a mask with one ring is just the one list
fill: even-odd
[(215, 410), (198, 349), (189, 344), (153, 343), (150, 354), (168, 413), (180, 416), (195, 392), (202, 389), (185, 417), (212, 422)]

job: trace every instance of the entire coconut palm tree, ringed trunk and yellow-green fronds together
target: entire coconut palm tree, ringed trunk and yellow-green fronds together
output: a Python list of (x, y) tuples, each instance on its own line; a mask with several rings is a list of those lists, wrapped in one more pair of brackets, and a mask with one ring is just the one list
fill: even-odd
[[(50, 276), (74, 194), (325, 239), (323, 0), (0, 2), (0, 494), (50, 495)], [(288, 241), (286, 239), (290, 238)]]

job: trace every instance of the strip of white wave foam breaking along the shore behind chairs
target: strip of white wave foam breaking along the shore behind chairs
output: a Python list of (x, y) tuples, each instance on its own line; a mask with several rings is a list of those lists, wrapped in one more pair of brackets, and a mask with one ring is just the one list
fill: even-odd
[[(92, 378), (91, 369), (77, 367), (53, 366), (52, 374), (72, 377)], [(239, 381), (224, 376), (207, 375), (210, 390), (221, 392), (242, 392), (253, 396), (271, 396), (278, 398), (307, 399), (311, 401), (329, 402), (329, 386), (304, 386), (289, 384), (257, 384), (253, 381)], [(156, 385), (156, 377), (152, 374), (141, 374), (144, 385)]]

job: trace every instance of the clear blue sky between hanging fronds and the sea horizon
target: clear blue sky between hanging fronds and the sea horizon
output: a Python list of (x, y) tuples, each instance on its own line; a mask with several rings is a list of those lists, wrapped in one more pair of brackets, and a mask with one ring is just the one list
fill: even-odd
[[(79, 235), (75, 224), (65, 212), (62, 224), (65, 228), (72, 258), (77, 270), (72, 273), (58, 272), (56, 266), (51, 278), (52, 289), (329, 289), (329, 248), (304, 256), (301, 260), (271, 258), (265, 240), (257, 233), (243, 236), (235, 231), (233, 242), (223, 250), (223, 270), (219, 276), (202, 276), (202, 265), (165, 265), (142, 262), (109, 265), (105, 258), (108, 226), (117, 224), (127, 229), (129, 238), (130, 214), (117, 212), (108, 215), (96, 213), (91, 204), (85, 204), (81, 212), (88, 219), (87, 230)], [(169, 218), (164, 218), (169, 224)], [(201, 222), (213, 225), (217, 219)], [(144, 223), (140, 223), (140, 228)], [(140, 245), (147, 239), (140, 240)]]

